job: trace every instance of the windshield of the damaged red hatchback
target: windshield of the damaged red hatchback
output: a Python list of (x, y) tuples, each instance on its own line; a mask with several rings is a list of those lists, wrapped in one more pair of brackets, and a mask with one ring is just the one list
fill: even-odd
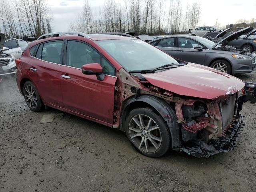
[(158, 48), (137, 39), (96, 41), (127, 71), (148, 70), (178, 62)]

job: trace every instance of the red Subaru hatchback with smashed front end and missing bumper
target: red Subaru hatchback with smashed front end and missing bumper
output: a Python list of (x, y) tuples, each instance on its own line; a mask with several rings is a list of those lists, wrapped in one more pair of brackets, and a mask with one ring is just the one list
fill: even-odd
[(242, 103), (255, 102), (244, 82), (136, 38), (69, 33), (77, 35), (41, 36), (16, 60), (32, 111), (50, 106), (123, 130), (150, 157), (169, 148), (208, 157), (234, 147)]

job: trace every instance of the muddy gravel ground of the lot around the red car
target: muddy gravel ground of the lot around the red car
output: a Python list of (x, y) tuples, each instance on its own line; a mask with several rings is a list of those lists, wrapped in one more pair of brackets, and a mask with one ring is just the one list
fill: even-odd
[[(256, 82), (256, 73), (238, 78)], [(148, 158), (113, 128), (52, 108), (30, 111), (15, 77), (1, 84), (0, 192), (256, 191), (255, 104), (244, 104), (246, 129), (232, 152)], [(40, 124), (44, 114), (53, 122)]]

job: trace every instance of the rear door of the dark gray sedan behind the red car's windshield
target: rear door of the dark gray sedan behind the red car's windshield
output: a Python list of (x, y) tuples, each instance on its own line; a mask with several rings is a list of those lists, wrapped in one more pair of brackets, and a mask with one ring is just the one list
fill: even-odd
[(176, 48), (174, 47), (175, 38), (164, 38), (160, 40), (156, 47), (172, 57), (176, 57)]

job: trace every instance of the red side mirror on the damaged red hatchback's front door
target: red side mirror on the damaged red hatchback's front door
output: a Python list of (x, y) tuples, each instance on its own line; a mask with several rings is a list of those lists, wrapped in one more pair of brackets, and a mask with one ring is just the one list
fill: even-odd
[(98, 63), (90, 63), (82, 66), (82, 73), (85, 75), (96, 75), (97, 79), (104, 80), (104, 75), (102, 74), (102, 66)]

